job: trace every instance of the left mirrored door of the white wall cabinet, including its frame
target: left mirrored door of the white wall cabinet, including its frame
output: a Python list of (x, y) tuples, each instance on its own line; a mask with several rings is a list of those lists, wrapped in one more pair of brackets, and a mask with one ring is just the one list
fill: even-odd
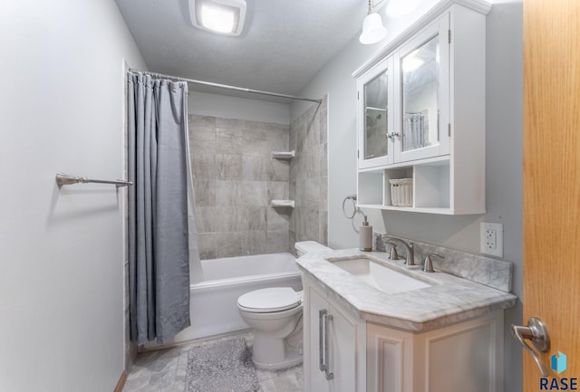
[(392, 163), (392, 58), (359, 81), (359, 167)]

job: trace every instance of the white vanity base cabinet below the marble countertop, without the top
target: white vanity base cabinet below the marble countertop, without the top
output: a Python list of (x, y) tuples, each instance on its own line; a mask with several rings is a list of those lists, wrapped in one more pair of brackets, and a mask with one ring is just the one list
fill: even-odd
[(362, 320), (303, 282), (304, 392), (503, 390), (503, 311), (411, 332)]

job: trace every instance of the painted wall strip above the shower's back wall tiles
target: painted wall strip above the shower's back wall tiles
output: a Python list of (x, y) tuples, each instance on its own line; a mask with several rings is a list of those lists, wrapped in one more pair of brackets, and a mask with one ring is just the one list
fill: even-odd
[(196, 91), (195, 86), (189, 86), (188, 112), (189, 114), (224, 119), (290, 124), (290, 105), (288, 103), (210, 94)]

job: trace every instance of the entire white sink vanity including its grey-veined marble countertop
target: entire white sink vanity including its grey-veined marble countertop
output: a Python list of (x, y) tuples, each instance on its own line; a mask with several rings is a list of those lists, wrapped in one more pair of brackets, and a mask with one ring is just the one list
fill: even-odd
[(468, 254), (446, 256), (458, 262), (450, 271), (468, 268), (473, 281), (407, 269), (382, 252), (296, 259), (304, 391), (501, 392), (504, 310), (517, 303), (509, 292), (513, 266)]

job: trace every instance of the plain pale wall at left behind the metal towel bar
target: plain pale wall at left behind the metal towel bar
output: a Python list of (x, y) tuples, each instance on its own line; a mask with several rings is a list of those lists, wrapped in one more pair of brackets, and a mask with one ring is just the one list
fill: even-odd
[(0, 390), (112, 391), (124, 368), (123, 58), (113, 1), (0, 3)]

